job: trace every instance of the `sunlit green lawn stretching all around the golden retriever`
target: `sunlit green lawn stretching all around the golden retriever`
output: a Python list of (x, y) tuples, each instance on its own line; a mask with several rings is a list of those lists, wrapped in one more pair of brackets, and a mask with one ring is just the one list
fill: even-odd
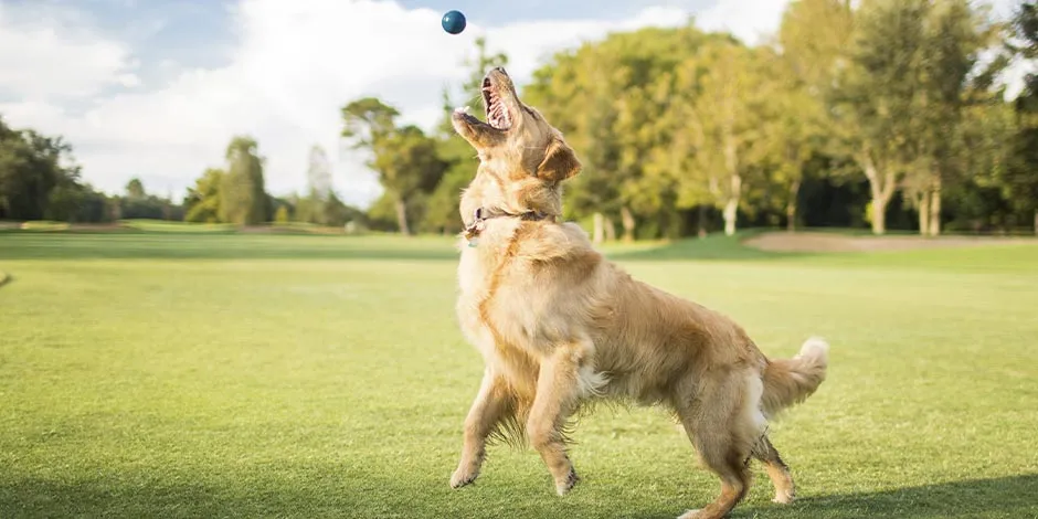
[[(771, 504), (756, 468), (733, 517), (1038, 517), (1038, 247), (608, 253), (769, 354), (833, 343), (772, 427), (801, 499)], [(666, 518), (714, 497), (644, 409), (582, 421), (564, 498), (505, 446), (451, 490), (481, 372), (455, 268), (442, 239), (0, 234), (0, 517)]]

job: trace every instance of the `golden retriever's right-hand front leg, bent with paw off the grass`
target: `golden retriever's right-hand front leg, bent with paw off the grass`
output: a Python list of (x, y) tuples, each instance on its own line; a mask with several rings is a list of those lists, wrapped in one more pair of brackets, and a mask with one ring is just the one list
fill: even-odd
[(541, 360), (537, 396), (527, 421), (530, 443), (548, 465), (560, 496), (578, 480), (565, 453), (561, 428), (581, 398), (581, 370), (587, 366), (592, 348), (590, 341), (560, 346)]

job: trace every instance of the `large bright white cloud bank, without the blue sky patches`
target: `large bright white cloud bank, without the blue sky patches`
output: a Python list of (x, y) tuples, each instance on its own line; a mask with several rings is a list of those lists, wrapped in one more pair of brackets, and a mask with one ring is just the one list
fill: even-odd
[[(735, 10), (734, 3), (721, 0), (701, 23), (733, 20), (728, 28), (750, 34), (774, 27), (784, 6)], [(508, 53), (509, 73), (522, 83), (558, 50), (614, 30), (680, 25), (688, 13), (648, 8), (625, 21), (532, 21), (494, 28), (470, 20), (458, 35), (444, 32), (439, 17), (427, 9), (370, 0), (241, 0), (233, 28), (239, 41), (227, 66), (182, 68), (165, 86), (99, 97), (83, 113), (70, 114), (62, 105), (29, 94), (22, 102), (0, 105), (0, 113), (15, 126), (66, 136), (86, 179), (108, 191), (121, 190), (129, 178), (140, 176), (150, 190), (172, 190), (179, 197), (205, 167), (223, 162), (233, 135), (250, 134), (267, 158), (268, 191), (301, 190), (308, 150), (320, 144), (333, 162), (337, 190), (363, 204), (380, 188), (361, 157), (339, 141), (340, 108), (347, 102), (374, 95), (399, 107), (404, 120), (430, 127), (439, 117), (443, 86), (464, 78), (460, 62), (477, 35), (485, 34), (491, 46)], [(118, 43), (88, 33), (68, 40), (74, 44), (62, 43), (65, 36), (41, 27), (15, 28), (21, 31), (15, 31), (20, 46), (49, 49), (39, 51), (46, 54), (35, 60), (6, 62), (13, 53), (0, 43), (0, 70), (22, 77), (20, 92), (41, 88), (65, 95), (96, 92), (112, 83), (139, 84), (127, 70), (129, 53)], [(82, 66), (61, 73), (74, 77), (45, 75), (47, 67), (74, 61)]]

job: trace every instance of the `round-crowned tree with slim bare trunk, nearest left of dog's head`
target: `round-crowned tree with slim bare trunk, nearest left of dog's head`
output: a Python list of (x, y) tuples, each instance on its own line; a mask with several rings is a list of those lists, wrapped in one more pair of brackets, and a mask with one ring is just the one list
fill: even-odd
[(436, 141), (419, 127), (396, 127), (399, 114), (373, 97), (354, 100), (342, 108), (342, 136), (370, 153), (367, 165), (393, 198), (400, 232), (411, 235), (409, 204), (435, 189), (447, 163), (437, 156)]

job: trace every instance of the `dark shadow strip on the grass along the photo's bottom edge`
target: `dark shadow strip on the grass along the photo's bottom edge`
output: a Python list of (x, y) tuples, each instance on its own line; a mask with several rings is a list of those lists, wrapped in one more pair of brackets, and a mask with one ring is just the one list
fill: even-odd
[[(313, 476), (313, 475), (310, 475)], [(204, 479), (203, 479), (204, 480)], [(498, 517), (506, 495), (455, 494), (421, 481), (337, 479), (286, 486), (252, 480), (202, 483), (19, 480), (0, 483), (0, 517)], [(970, 479), (873, 492), (802, 498), (792, 506), (744, 502), (731, 515), (774, 518), (1035, 518), (1038, 474)], [(447, 495), (449, 492), (449, 496)], [(517, 489), (523, 494), (523, 489)], [(574, 496), (576, 497), (576, 496)], [(672, 518), (674, 504), (631, 502), (602, 507), (531, 498), (512, 502), (521, 517)], [(700, 506), (702, 504), (688, 504)], [(642, 508), (637, 510), (636, 508)], [(648, 508), (646, 510), (645, 508)], [(666, 509), (664, 509), (666, 508)], [(462, 516), (458, 516), (460, 513)]]

